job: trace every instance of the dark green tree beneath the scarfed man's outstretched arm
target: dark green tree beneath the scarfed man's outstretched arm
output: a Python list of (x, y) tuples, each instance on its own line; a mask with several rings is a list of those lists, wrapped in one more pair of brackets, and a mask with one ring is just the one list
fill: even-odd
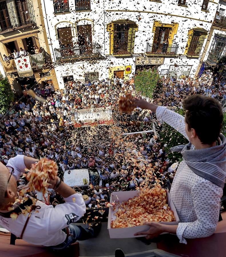
[[(183, 109), (177, 109), (177, 113), (180, 115), (185, 115), (185, 111)], [(188, 140), (177, 130), (174, 128), (170, 127), (167, 123), (162, 124), (162, 129), (160, 131), (160, 140), (161, 142), (164, 142), (167, 144), (165, 147), (165, 151), (168, 155), (168, 158), (172, 162), (180, 161), (182, 160), (182, 155), (181, 153), (178, 152), (169, 152), (169, 149), (173, 146), (177, 146), (179, 144), (187, 144)]]

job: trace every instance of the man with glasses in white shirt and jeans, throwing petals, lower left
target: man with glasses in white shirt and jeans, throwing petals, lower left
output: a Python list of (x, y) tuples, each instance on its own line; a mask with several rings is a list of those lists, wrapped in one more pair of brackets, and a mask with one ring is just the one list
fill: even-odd
[[(85, 203), (81, 194), (61, 182), (58, 177), (49, 180), (49, 188), (53, 188), (66, 201), (53, 208), (52, 205), (37, 200), (33, 203), (32, 197), (20, 204), (10, 205), (18, 199), (17, 180), (37, 159), (17, 155), (7, 164), (1, 166), (0, 188), (0, 225), (17, 237), (35, 245), (51, 246), (52, 249), (64, 249), (76, 240), (86, 240), (98, 234), (100, 224), (94, 223), (91, 228), (82, 228), (73, 224), (85, 213)], [(13, 168), (13, 170), (12, 170)], [(13, 172), (13, 173), (12, 173)], [(13, 175), (12, 175), (13, 174)], [(7, 209), (10, 206), (10, 210)], [(37, 211), (23, 215), (21, 210), (31, 207)], [(12, 210), (13, 209), (13, 210)], [(11, 214), (18, 215), (12, 219)], [(29, 218), (28, 218), (29, 217)]]

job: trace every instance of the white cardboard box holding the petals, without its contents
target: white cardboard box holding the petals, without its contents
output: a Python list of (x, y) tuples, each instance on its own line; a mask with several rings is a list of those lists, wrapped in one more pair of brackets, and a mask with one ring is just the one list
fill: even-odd
[[(113, 201), (115, 202), (123, 202), (127, 201), (129, 198), (133, 198), (135, 196), (139, 195), (139, 191), (124, 191), (124, 192), (112, 192), (110, 203)], [(167, 191), (167, 202), (169, 204), (170, 209), (173, 211), (175, 220), (174, 222), (161, 222), (163, 224), (167, 225), (177, 225), (179, 223), (179, 218), (175, 209), (175, 206), (173, 204), (173, 201), (170, 198), (169, 192)], [(117, 210), (116, 210), (117, 211)], [(115, 211), (115, 212), (116, 212)], [(137, 217), (139, 220), (139, 217)], [(131, 238), (131, 237), (141, 237), (145, 235), (140, 236), (134, 236), (135, 233), (140, 231), (147, 231), (149, 230), (149, 226), (143, 225), (143, 226), (134, 226), (129, 228), (111, 228), (111, 221), (115, 220), (114, 212), (112, 210), (112, 207), (109, 208), (109, 215), (108, 215), (108, 224), (107, 228), (109, 231), (110, 238)]]

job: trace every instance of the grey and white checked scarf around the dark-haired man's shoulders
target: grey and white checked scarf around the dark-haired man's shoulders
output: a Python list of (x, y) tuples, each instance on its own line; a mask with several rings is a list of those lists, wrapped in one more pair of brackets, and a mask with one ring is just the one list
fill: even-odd
[(226, 138), (220, 134), (222, 144), (203, 148), (190, 149), (191, 143), (170, 148), (171, 152), (181, 152), (187, 166), (198, 176), (224, 187), (226, 177)]

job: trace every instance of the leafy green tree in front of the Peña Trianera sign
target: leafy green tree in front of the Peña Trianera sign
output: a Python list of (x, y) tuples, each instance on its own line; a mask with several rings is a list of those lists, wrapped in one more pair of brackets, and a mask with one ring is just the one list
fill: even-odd
[(159, 84), (160, 77), (156, 70), (151, 69), (138, 71), (135, 77), (135, 89), (145, 97), (152, 98), (156, 86)]

